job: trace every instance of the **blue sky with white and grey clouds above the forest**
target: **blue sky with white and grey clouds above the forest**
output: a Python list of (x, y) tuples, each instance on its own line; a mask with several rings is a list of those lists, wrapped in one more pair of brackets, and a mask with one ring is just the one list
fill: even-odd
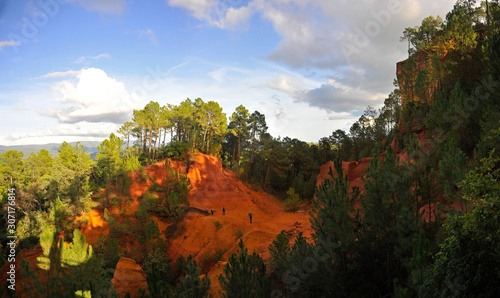
[(455, 0), (0, 0), (0, 145), (102, 141), (149, 101), (218, 102), (274, 137), (348, 131), (399, 38)]

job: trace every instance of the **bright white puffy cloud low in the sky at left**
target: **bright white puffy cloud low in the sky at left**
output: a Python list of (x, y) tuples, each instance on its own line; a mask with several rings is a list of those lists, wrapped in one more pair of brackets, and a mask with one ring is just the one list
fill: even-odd
[(76, 82), (57, 82), (52, 90), (57, 95), (55, 102), (61, 105), (39, 113), (61, 123), (121, 124), (129, 120), (133, 109), (143, 104), (142, 99), (129, 93), (122, 82), (97, 68), (82, 69), (76, 74)]

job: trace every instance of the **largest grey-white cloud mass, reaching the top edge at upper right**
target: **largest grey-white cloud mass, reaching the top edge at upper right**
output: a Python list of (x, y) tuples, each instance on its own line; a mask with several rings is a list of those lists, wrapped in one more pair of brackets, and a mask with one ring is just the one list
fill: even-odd
[[(356, 5), (347, 0), (236, 2), (238, 7), (225, 0), (167, 1), (224, 29), (238, 28), (252, 15), (267, 20), (281, 38), (267, 59), (294, 69), (318, 70), (341, 84), (323, 81), (300, 93), (295, 90), (304, 88), (299, 81), (278, 77), (268, 86), (312, 106), (347, 111), (374, 105), (376, 98), (382, 100), (381, 94), (391, 91), (396, 62), (407, 57), (405, 44), (399, 42), (404, 29), (419, 25), (429, 15), (444, 17), (456, 0), (439, 4), (434, 0), (358, 0)], [(230, 17), (236, 11), (241, 16)]]

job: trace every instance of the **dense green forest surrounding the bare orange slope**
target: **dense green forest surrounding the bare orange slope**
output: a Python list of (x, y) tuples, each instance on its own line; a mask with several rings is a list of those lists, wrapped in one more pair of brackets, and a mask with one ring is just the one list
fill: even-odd
[[(141, 200), (140, 229), (105, 209), (110, 237), (89, 246), (75, 216), (124, 203), (116, 194), (127, 193), (130, 173), (148, 179), (148, 165), (169, 158), (189, 167), (202, 152), (287, 209), (311, 210), (312, 241), (280, 233), (268, 260), (241, 241), (218, 278), (224, 297), (500, 297), (499, 30), (494, 0), (458, 0), (444, 19), (406, 28), (408, 59), (398, 63), (396, 89), (383, 107), (367, 107), (349, 131), (317, 143), (272, 136), (262, 113), (239, 106), (227, 117), (217, 102), (197, 98), (135, 110), (95, 160), (68, 143), (57, 156), (3, 153), (2, 220), (15, 189), (16, 249), (40, 243), (44, 252), (44, 277), (23, 264), (25, 292), (113, 296), (120, 256), (134, 255), (147, 273), (148, 293), (140, 296), (207, 297), (210, 280), (199, 264), (167, 259), (168, 240), (148, 216), (182, 218), (191, 188), (185, 175), (167, 167), (165, 183), (155, 186), (164, 196)], [(372, 158), (362, 193), (342, 161), (365, 157)], [(330, 179), (317, 187), (321, 165), (331, 160)], [(0, 229), (10, 235), (7, 225)], [(120, 248), (131, 234), (144, 243), (141, 252)], [(7, 242), (2, 237), (0, 266)], [(7, 284), (2, 291), (12, 295)]]

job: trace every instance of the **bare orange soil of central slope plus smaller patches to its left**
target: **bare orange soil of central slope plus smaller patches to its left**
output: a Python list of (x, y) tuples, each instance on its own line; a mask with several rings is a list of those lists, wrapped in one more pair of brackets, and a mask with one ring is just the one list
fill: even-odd
[[(171, 161), (176, 170), (186, 174), (185, 164)], [(162, 185), (166, 178), (165, 161), (157, 162), (147, 168), (149, 177), (154, 181), (139, 182), (139, 175), (131, 174), (130, 207), (125, 213), (132, 215), (137, 211), (138, 198), (145, 193), (155, 182)], [(188, 212), (178, 224), (178, 234), (170, 240), (167, 256), (176, 260), (179, 256), (187, 257), (191, 254), (196, 262), (208, 269), (207, 276), (211, 279), (211, 293), (219, 295), (218, 276), (222, 273), (223, 264), (227, 262), (231, 253), (238, 250), (238, 231), (249, 252), (257, 252), (264, 259), (269, 258), (268, 246), (282, 230), (295, 236), (299, 231), (306, 239), (311, 238), (311, 224), (309, 222), (309, 207), (295, 213), (283, 210), (282, 203), (273, 196), (259, 190), (255, 191), (236, 175), (224, 170), (220, 160), (202, 153), (197, 154), (194, 163), (187, 171), (193, 189), (189, 196), (189, 204), (201, 210), (214, 209), (214, 216)], [(125, 205), (126, 206), (126, 205)], [(222, 215), (222, 207), (226, 207), (226, 215)], [(122, 206), (123, 208), (123, 206)], [(120, 208), (110, 208), (111, 214), (120, 214)], [(250, 223), (248, 213), (253, 216)], [(102, 212), (92, 210), (85, 216), (89, 224), (81, 229), (87, 237), (87, 242), (94, 242), (101, 233), (107, 235), (109, 227), (102, 219)], [(167, 220), (152, 215), (164, 236), (165, 229), (171, 225)], [(222, 228), (217, 229), (216, 222)], [(130, 247), (129, 247), (130, 246)], [(137, 247), (138, 243), (128, 244), (127, 248)], [(224, 250), (221, 261), (212, 265), (210, 260), (218, 251)]]

